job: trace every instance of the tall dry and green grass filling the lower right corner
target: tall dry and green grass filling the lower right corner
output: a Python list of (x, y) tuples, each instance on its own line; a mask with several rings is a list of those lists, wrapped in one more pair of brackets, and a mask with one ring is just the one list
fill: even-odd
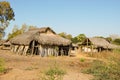
[[(106, 56), (106, 57), (105, 57)], [(94, 55), (96, 57), (96, 55)], [(84, 73), (93, 74), (93, 80), (119, 80), (120, 79), (120, 54), (102, 53), (97, 54), (97, 58), (91, 65), (83, 70)]]

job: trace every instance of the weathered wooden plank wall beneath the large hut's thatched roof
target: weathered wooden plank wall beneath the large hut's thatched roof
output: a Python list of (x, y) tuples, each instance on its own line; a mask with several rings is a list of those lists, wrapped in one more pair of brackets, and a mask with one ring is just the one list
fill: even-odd
[[(32, 44), (31, 44), (32, 45)], [(40, 55), (44, 56), (58, 56), (68, 55), (69, 46), (55, 46), (55, 45), (12, 45), (11, 51), (21, 55)], [(33, 50), (32, 50), (33, 49)]]

